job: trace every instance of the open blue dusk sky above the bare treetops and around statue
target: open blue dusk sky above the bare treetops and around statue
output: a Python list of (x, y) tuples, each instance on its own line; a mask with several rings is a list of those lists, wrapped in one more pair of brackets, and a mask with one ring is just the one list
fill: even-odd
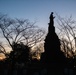
[(48, 26), (52, 11), (63, 17), (72, 15), (76, 19), (76, 0), (0, 0), (1, 13), (11, 18), (37, 21), (36, 25), (43, 28)]

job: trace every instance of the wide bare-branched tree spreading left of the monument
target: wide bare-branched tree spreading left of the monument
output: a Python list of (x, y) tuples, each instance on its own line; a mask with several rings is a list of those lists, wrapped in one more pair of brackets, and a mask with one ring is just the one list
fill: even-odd
[(13, 42), (22, 42), (25, 45), (33, 47), (44, 40), (45, 34), (43, 29), (35, 26), (35, 22), (31, 23), (27, 19), (11, 19), (2, 14), (0, 14), (0, 31), (11, 48)]

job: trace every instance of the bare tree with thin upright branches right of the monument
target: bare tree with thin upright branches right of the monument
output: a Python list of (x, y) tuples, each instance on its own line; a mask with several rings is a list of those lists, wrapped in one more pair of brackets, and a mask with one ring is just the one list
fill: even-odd
[(76, 21), (72, 19), (72, 16), (62, 18), (57, 14), (57, 18), (61, 48), (67, 57), (74, 56), (76, 51)]

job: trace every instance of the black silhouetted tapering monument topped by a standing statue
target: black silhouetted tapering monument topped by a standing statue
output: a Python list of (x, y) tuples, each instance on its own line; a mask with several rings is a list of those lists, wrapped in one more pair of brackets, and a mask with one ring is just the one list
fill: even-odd
[[(51, 15), (49, 17), (50, 22), (48, 23), (48, 34), (45, 38), (44, 43), (44, 49), (45, 52), (42, 54), (41, 60), (42, 62), (50, 65), (53, 65), (54, 63), (59, 65), (65, 65), (65, 56), (63, 52), (60, 50), (60, 40), (55, 33), (55, 27), (54, 27), (54, 16), (53, 12), (51, 12)], [(55, 65), (55, 66), (57, 66)]]

